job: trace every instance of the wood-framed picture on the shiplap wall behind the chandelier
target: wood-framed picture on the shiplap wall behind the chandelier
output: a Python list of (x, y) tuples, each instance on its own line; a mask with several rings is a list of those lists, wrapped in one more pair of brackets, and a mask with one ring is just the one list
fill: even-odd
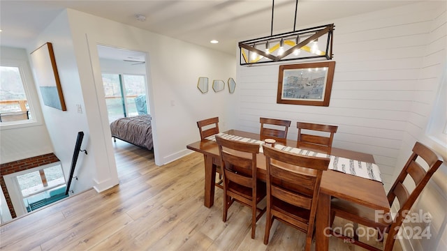
[(278, 104), (329, 106), (335, 61), (279, 66)]

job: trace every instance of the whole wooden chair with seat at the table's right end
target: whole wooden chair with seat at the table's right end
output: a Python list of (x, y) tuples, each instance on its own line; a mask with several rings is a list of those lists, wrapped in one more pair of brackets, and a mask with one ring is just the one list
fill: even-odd
[[(383, 249), (393, 250), (397, 232), (406, 218), (406, 213), (409, 212), (411, 206), (413, 206), (416, 199), (418, 199), (420, 192), (423, 191), (423, 188), (427, 185), (428, 181), (434, 172), (437, 171), (442, 162), (443, 159), (440, 155), (420, 142), (416, 142), (413, 146), (413, 153), (388, 192), (388, 202), (390, 207), (393, 205), (395, 199), (397, 199), (397, 204), (400, 206), (400, 209), (397, 211), (394, 218), (390, 214), (381, 215), (379, 213), (378, 216), (377, 212), (372, 208), (333, 198), (331, 201), (331, 225), (335, 216), (337, 216), (346, 220), (351, 220), (352, 222), (355, 222), (356, 225), (360, 224), (376, 229), (378, 231), (376, 241), (383, 241), (384, 235), (388, 233)], [(427, 166), (427, 171), (423, 168), (423, 165)], [(409, 178), (405, 181), (407, 177)], [(411, 180), (414, 185), (412, 191), (410, 189), (411, 185), (409, 185)], [(367, 250), (379, 250), (379, 248), (359, 241), (358, 236), (351, 238), (333, 230), (331, 230), (331, 233), (338, 238), (359, 245)]]

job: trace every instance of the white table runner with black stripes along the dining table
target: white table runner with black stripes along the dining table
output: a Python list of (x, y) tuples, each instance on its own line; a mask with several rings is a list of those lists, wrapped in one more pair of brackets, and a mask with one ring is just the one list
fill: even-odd
[[(247, 137), (240, 137), (240, 136), (236, 136), (236, 135), (229, 135), (229, 134), (226, 134), (223, 132), (220, 132), (217, 135), (223, 137), (224, 139), (231, 139), (231, 140), (235, 140), (235, 141), (239, 141), (239, 142), (248, 142), (248, 143), (259, 144), (259, 151), (261, 153), (263, 152), (262, 144), (264, 144), (264, 142), (262, 140), (250, 139)], [(215, 135), (207, 137), (206, 139), (216, 141)], [(286, 152), (300, 154), (300, 155), (307, 155), (307, 156), (314, 156), (314, 157), (321, 157), (321, 158), (330, 158), (330, 163), (329, 163), (328, 168), (331, 170), (335, 170), (338, 172), (344, 172), (345, 174), (351, 174), (351, 175), (359, 176), (362, 178), (368, 178), (373, 181), (382, 182), (379, 166), (374, 163), (363, 162), (360, 160), (351, 160), (349, 158), (343, 158), (343, 157), (338, 157), (338, 156), (334, 156), (334, 155), (329, 155), (326, 153), (318, 153), (315, 151), (309, 151), (309, 150), (304, 150), (304, 149), (298, 149), (296, 147), (284, 146), (281, 144), (275, 144), (274, 148), (279, 149), (281, 151), (286, 151)]]

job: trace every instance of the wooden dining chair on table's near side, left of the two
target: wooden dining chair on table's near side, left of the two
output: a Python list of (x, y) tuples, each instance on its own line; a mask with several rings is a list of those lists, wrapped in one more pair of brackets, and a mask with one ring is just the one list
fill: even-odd
[(256, 222), (265, 213), (258, 203), (265, 198), (265, 183), (258, 181), (256, 155), (259, 144), (236, 142), (216, 136), (223, 170), (223, 222), (228, 208), (234, 201), (251, 208), (251, 238), (254, 238)]

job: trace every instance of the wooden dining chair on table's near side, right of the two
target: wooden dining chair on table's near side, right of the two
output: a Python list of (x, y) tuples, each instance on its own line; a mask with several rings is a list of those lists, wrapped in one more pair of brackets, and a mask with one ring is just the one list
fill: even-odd
[(276, 219), (304, 231), (305, 250), (310, 250), (321, 176), (330, 159), (288, 153), (265, 144), (263, 151), (267, 169), (264, 244), (268, 244)]

